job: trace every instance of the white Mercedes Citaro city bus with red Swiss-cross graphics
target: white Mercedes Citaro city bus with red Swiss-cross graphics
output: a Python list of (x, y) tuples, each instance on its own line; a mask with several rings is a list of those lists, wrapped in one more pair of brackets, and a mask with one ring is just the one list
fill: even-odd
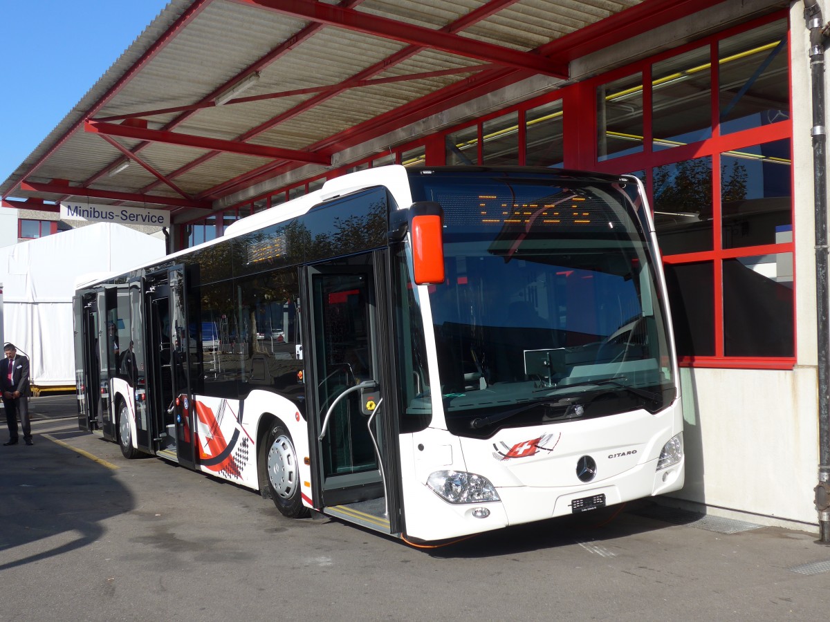
[(373, 168), (76, 291), (81, 429), (410, 542), (681, 488), (635, 177)]

